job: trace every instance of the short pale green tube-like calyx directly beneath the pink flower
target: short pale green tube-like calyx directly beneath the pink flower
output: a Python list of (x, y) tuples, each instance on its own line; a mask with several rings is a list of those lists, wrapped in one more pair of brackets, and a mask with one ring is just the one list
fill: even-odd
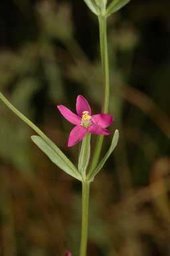
[(78, 157), (78, 170), (82, 174), (86, 174), (86, 169), (90, 160), (90, 139), (91, 135), (90, 133), (87, 133), (82, 141), (80, 155)]

